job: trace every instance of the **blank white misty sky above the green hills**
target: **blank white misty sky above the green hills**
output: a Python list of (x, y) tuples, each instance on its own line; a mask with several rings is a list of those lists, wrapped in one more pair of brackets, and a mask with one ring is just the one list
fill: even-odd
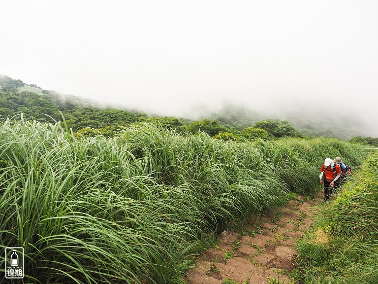
[(360, 113), (378, 136), (378, 1), (4, 0), (0, 74), (179, 117)]

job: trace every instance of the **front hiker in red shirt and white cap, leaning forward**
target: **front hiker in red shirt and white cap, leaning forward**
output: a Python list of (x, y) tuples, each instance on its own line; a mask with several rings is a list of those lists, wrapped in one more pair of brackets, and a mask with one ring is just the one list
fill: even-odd
[(335, 182), (341, 176), (341, 171), (338, 164), (331, 158), (326, 158), (324, 164), (321, 166), (320, 172), (322, 172), (320, 184), (324, 183), (324, 201), (327, 202), (330, 195), (333, 193)]

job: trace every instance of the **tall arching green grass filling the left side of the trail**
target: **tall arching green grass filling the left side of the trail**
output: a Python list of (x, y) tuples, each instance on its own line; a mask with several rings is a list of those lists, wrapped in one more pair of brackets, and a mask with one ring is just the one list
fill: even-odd
[(149, 124), (76, 139), (61, 122), (8, 120), (0, 145), (0, 246), (25, 248), (26, 283), (169, 283), (206, 236), (309, 191), (329, 156)]

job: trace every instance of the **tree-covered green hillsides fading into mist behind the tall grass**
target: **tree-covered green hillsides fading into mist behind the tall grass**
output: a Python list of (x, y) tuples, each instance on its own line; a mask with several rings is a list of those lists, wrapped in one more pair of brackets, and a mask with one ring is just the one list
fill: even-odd
[(96, 133), (113, 136), (120, 126), (153, 122), (162, 128), (173, 128), (177, 132), (203, 131), (224, 141), (324, 136), (344, 140), (353, 137), (353, 142), (365, 144), (377, 142), (377, 139), (363, 137), (359, 131), (361, 125), (352, 117), (335, 124), (330, 120), (324, 122), (312, 115), (303, 117), (293, 113), (289, 122), (235, 106), (203, 115), (197, 121), (177, 117), (152, 117), (134, 109), (103, 108), (94, 100), (43, 90), (35, 84), (26, 84), (20, 79), (0, 75), (0, 119), (21, 113), (25, 119), (39, 122), (54, 123), (64, 119), (69, 128), (83, 136), (93, 136)]

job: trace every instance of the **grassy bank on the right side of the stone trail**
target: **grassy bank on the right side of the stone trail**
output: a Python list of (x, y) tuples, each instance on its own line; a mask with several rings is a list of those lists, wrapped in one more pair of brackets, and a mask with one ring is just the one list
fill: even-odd
[(378, 283), (378, 151), (363, 163), (299, 243), (306, 283)]

